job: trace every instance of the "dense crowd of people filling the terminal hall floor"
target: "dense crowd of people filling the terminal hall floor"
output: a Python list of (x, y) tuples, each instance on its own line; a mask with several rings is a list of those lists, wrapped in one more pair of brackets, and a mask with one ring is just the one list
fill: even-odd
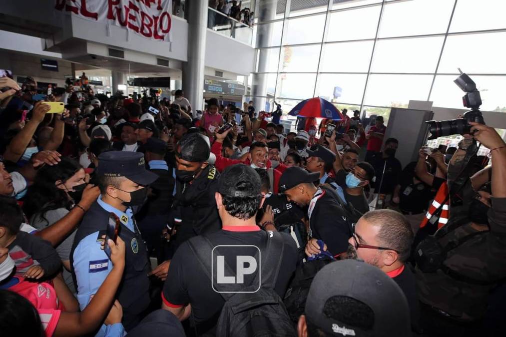
[(503, 333), (493, 128), (403, 168), (381, 116), (292, 131), (280, 106), (198, 111), (85, 79), (0, 78), (0, 334)]

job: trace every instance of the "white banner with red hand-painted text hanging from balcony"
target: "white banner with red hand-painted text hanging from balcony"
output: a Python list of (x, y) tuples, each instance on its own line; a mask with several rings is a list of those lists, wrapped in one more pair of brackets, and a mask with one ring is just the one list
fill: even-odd
[(170, 41), (172, 0), (55, 0), (55, 10)]

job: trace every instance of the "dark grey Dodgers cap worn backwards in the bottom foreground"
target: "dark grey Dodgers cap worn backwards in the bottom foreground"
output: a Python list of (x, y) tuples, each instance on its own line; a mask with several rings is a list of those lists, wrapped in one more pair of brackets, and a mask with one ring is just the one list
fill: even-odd
[[(335, 297), (351, 298), (369, 307), (373, 317), (369, 317), (368, 326), (357, 326), (346, 314), (327, 316), (325, 304)], [(316, 274), (305, 314), (308, 321), (332, 335), (411, 335), (409, 307), (401, 288), (381, 269), (357, 260), (332, 262)]]

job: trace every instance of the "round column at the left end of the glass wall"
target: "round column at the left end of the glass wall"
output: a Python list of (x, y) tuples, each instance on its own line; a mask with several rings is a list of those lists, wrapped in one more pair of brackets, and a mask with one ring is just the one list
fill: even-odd
[[(276, 16), (276, 1), (261, 1), (259, 3), (260, 9), (256, 13), (259, 22), (274, 20)], [(257, 26), (257, 46), (267, 46), (272, 35), (272, 25), (258, 25)], [(267, 71), (268, 50), (261, 49), (258, 56), (258, 72)], [(253, 74), (251, 81), (251, 95), (252, 96), (267, 96), (267, 74)], [(256, 111), (265, 109), (265, 98), (255, 97), (253, 104)]]

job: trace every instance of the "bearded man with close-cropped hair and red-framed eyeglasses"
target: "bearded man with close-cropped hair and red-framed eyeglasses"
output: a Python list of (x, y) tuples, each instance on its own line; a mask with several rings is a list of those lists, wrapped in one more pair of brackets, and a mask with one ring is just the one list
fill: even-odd
[(404, 292), (409, 304), (411, 325), (418, 330), (420, 309), (416, 282), (406, 261), (413, 231), (407, 219), (391, 209), (372, 210), (355, 225), (348, 240), (347, 259), (361, 259), (390, 276)]

